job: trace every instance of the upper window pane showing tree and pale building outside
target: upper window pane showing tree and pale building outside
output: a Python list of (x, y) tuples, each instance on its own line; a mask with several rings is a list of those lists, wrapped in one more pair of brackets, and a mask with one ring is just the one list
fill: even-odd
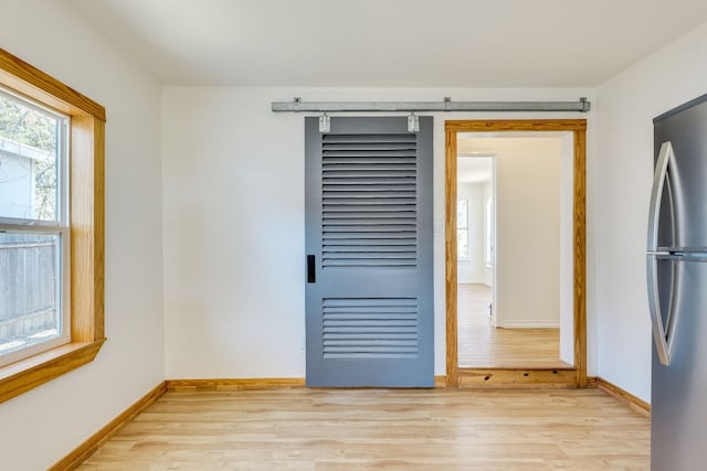
[(0, 90), (0, 217), (57, 221), (62, 121)]

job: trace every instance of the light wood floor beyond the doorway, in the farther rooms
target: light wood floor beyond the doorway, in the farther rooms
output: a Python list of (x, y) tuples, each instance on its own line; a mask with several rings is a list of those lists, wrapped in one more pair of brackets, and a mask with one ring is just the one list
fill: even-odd
[(559, 329), (496, 329), (490, 324), (490, 287), (460, 283), (457, 290), (461, 367), (567, 367), (560, 361)]

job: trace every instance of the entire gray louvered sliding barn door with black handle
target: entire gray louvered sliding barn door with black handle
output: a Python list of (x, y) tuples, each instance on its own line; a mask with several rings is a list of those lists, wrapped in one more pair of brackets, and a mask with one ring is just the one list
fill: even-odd
[(305, 119), (307, 386), (432, 387), (432, 118)]

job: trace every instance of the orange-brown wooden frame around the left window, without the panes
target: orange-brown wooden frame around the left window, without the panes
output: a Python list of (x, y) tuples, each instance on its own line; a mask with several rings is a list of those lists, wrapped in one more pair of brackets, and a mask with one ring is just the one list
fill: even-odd
[(105, 108), (0, 49), (0, 85), (71, 118), (71, 341), (0, 367), (0, 403), (86, 363), (104, 336)]

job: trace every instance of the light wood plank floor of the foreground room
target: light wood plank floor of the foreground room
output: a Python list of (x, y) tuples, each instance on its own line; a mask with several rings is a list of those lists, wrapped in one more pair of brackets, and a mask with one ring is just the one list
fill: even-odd
[(80, 470), (647, 470), (650, 420), (598, 389), (167, 393)]

